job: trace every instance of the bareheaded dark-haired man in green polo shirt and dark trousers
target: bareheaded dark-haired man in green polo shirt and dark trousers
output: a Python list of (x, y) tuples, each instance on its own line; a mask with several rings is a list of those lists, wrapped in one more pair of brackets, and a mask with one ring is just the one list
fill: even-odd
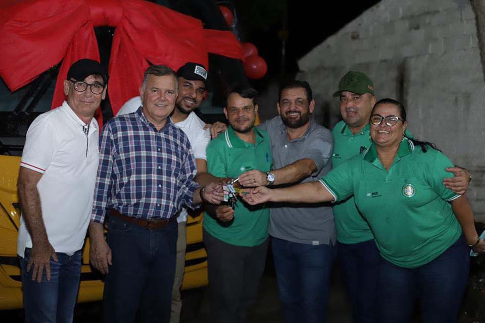
[[(228, 129), (207, 147), (207, 169), (216, 177), (237, 178), (248, 170), (269, 172), (273, 164), (266, 131), (254, 127), (257, 92), (237, 86), (226, 96)], [(213, 321), (244, 322), (255, 301), (268, 248), (269, 208), (221, 205), (204, 215)]]

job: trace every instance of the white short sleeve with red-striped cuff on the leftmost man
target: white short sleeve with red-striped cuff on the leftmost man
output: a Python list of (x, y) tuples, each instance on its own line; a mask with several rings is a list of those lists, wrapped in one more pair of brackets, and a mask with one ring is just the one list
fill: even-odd
[(44, 174), (58, 145), (54, 125), (44, 116), (37, 117), (27, 131), (20, 166)]

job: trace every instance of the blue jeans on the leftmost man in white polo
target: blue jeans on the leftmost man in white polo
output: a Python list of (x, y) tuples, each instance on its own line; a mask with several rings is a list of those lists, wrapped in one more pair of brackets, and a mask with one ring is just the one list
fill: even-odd
[(32, 268), (27, 272), (30, 252), (25, 248), (24, 258), (20, 257), (25, 321), (72, 322), (81, 277), (81, 250), (72, 256), (56, 252), (58, 261), (51, 259), (51, 280), (46, 280), (44, 270), (40, 283), (32, 280)]

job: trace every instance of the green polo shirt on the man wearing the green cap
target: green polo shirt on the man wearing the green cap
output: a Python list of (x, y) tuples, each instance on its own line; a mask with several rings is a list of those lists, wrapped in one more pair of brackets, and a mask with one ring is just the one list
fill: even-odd
[[(369, 130), (370, 126), (367, 124), (354, 135), (344, 121), (337, 123), (333, 127), (333, 168), (369, 148), (372, 143), (369, 139)], [(367, 221), (355, 207), (354, 196), (335, 203), (333, 206), (333, 217), (335, 218), (335, 229), (339, 242), (358, 243), (374, 239)]]

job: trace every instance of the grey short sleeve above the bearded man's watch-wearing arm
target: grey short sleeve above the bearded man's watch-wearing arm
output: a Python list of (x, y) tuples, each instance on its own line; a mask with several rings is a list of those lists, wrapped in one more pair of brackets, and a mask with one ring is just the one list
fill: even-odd
[(317, 170), (312, 174), (316, 176), (322, 168), (328, 163), (332, 156), (333, 139), (330, 132), (315, 131), (305, 143), (305, 150), (301, 152), (300, 159), (312, 159)]

